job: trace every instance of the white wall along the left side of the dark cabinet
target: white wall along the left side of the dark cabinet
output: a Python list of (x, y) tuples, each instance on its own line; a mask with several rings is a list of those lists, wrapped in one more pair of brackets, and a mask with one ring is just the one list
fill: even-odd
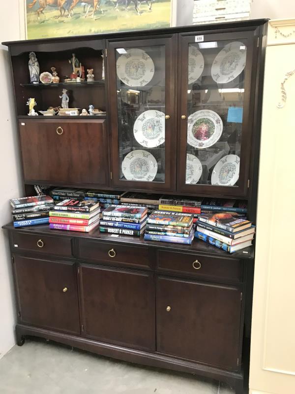
[[(0, 42), (20, 39), (19, 1), (0, 2)], [(14, 101), (7, 48), (0, 45), (0, 226), (11, 222), (8, 199), (23, 194)], [(0, 230), (0, 358), (15, 344), (11, 259), (5, 230)]]

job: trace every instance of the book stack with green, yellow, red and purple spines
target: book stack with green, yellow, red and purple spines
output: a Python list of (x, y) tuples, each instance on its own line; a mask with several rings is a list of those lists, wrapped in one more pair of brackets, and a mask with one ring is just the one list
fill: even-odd
[(64, 199), (49, 213), (49, 228), (89, 232), (99, 225), (99, 202), (92, 200)]

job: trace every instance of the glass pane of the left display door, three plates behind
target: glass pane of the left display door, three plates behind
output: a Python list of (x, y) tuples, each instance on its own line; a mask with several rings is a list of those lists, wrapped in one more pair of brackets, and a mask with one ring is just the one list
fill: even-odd
[(121, 180), (165, 181), (165, 46), (117, 48)]

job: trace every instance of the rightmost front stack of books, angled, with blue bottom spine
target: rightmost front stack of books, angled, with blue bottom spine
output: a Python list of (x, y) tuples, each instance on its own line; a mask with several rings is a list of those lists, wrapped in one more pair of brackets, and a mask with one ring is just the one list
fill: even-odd
[(230, 212), (204, 214), (197, 221), (196, 238), (234, 253), (252, 245), (255, 226)]

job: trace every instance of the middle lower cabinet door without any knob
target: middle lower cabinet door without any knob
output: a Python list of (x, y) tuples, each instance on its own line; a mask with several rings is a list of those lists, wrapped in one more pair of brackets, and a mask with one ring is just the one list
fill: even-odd
[(148, 272), (80, 265), (84, 335), (155, 349), (155, 285)]

